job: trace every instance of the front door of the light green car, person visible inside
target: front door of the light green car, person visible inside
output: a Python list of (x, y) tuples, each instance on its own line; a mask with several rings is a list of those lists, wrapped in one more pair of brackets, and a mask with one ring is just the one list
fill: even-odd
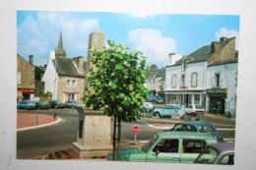
[[(167, 148), (166, 141), (171, 147)], [(157, 142), (152, 150), (148, 152), (147, 161), (153, 162), (180, 162), (179, 139), (164, 139)]]

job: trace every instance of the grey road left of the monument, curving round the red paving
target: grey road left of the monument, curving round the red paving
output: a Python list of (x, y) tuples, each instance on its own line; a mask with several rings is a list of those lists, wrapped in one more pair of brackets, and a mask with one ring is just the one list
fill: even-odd
[[(44, 111), (46, 112), (52, 114), (49, 110)], [(72, 142), (77, 140), (78, 114), (74, 111), (59, 111), (57, 116), (61, 118), (58, 124), (17, 133), (18, 159), (32, 158), (72, 147)]]

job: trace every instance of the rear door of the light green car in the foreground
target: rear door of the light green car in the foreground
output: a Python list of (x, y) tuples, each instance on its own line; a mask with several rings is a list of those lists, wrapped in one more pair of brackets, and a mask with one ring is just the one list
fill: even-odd
[(193, 163), (197, 156), (204, 150), (207, 142), (201, 139), (183, 139), (181, 141), (181, 163)]

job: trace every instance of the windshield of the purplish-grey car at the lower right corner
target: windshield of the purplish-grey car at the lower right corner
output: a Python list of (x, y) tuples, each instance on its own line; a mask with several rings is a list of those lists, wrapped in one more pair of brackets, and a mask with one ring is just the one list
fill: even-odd
[(196, 162), (204, 164), (214, 164), (218, 156), (219, 152), (216, 149), (208, 147), (199, 155)]

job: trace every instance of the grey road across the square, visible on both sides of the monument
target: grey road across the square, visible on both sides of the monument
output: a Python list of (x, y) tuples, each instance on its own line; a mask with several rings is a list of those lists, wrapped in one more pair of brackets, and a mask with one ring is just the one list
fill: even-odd
[[(53, 110), (55, 111), (55, 110)], [(40, 114), (51, 114), (51, 110), (38, 111)], [(77, 140), (78, 113), (74, 109), (63, 109), (58, 113), (62, 121), (58, 124), (17, 133), (17, 158), (36, 158), (57, 150), (69, 149)], [(235, 122), (228, 119), (205, 117), (204, 121), (212, 122), (224, 136), (224, 140), (234, 139)], [(176, 123), (169, 118), (142, 118), (135, 123), (122, 123), (122, 145), (133, 144), (133, 127), (138, 125), (140, 133), (137, 142), (147, 142), (160, 130), (170, 128)]]

